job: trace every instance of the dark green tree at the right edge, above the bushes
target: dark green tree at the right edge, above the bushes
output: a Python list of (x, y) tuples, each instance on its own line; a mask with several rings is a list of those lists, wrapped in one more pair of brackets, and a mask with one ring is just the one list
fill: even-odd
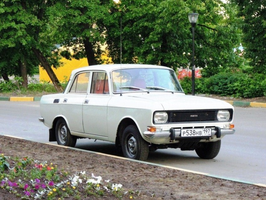
[(254, 71), (265, 73), (266, 67), (266, 2), (232, 0), (237, 3), (239, 16), (243, 19), (243, 46), (245, 57), (250, 59)]

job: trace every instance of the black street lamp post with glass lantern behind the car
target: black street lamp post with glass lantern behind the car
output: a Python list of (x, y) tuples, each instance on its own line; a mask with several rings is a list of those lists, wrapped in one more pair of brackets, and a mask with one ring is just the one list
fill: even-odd
[(199, 14), (190, 13), (188, 14), (189, 22), (192, 26), (192, 95), (195, 95), (195, 55), (194, 55), (194, 33), (195, 25), (198, 20)]

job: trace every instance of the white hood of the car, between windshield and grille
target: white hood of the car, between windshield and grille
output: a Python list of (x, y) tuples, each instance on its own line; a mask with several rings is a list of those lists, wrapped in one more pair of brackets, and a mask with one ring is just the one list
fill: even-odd
[(185, 95), (183, 93), (134, 93), (128, 96), (142, 98), (160, 103), (164, 110), (194, 110), (194, 109), (228, 109), (233, 108), (229, 103), (201, 96)]

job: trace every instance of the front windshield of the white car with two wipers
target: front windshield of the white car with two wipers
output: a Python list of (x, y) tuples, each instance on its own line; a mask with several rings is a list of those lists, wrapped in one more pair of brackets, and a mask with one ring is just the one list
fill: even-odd
[[(121, 76), (122, 74), (122, 76)], [(112, 72), (113, 92), (183, 92), (175, 72), (160, 68), (127, 68)]]

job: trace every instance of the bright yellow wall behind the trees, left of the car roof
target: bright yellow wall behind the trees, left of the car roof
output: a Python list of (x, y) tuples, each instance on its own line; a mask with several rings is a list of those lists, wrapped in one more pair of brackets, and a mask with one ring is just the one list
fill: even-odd
[[(107, 56), (102, 55), (102, 58), (107, 59)], [(111, 59), (109, 59), (109, 61), (110, 60)], [(60, 82), (65, 80), (64, 76), (67, 77), (66, 81), (68, 81), (72, 70), (77, 69), (77, 68), (81, 68), (81, 67), (89, 66), (87, 58), (82, 58), (80, 60), (76, 60), (76, 59), (67, 60), (65, 58), (62, 58), (61, 62), (63, 62), (64, 65), (62, 65), (61, 67), (59, 67), (57, 69), (52, 68), (53, 71), (55, 72), (55, 75), (57, 76), (57, 78)], [(51, 79), (49, 78), (49, 76), (46, 73), (46, 71), (44, 70), (44, 68), (39, 67), (39, 70), (40, 70), (40, 82), (50, 81), (50, 83), (51, 83)]]

